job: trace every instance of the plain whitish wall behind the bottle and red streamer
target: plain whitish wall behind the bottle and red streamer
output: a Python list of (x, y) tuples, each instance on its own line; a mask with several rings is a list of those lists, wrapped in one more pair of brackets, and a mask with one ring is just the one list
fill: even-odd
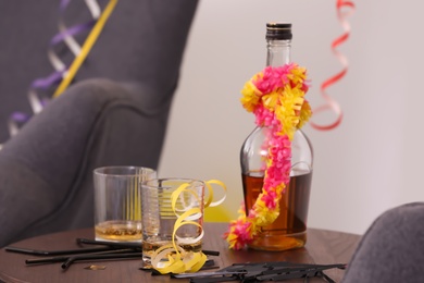
[[(339, 127), (304, 132), (315, 150), (309, 226), (364, 233), (383, 211), (423, 200), (422, 1), (352, 0), (348, 75), (328, 94)], [(292, 60), (309, 69), (312, 107), (340, 70), (329, 45), (342, 33), (336, 0), (203, 0), (191, 29), (159, 174), (220, 179), (232, 217), (241, 201), (239, 149), (253, 128), (244, 83), (265, 61), (265, 23), (294, 24)], [(325, 115), (324, 115), (325, 116)], [(315, 116), (320, 122), (320, 118)]]

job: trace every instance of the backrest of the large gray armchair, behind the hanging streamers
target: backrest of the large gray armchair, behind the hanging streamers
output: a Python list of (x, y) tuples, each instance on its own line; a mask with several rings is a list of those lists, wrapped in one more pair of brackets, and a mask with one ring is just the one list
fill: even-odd
[[(91, 19), (86, 1), (71, 1), (64, 12), (67, 27)], [(105, 5), (107, 1), (99, 1)], [(14, 111), (32, 113), (30, 83), (52, 73), (47, 50), (58, 34), (60, 1), (0, 1), (0, 144), (9, 139), (7, 123)], [(107, 22), (75, 81), (91, 77), (142, 82), (158, 89), (152, 106), (174, 93), (197, 0), (122, 0)], [(87, 36), (75, 38), (82, 44)], [(73, 54), (57, 46), (70, 64)]]

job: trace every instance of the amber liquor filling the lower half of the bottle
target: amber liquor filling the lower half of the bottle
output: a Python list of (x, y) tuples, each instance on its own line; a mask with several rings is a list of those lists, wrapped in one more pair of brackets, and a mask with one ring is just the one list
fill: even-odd
[[(246, 212), (262, 192), (263, 176), (241, 175)], [(290, 177), (279, 201), (279, 216), (264, 226), (249, 247), (262, 250), (286, 250), (303, 247), (307, 243), (307, 219), (312, 172)]]

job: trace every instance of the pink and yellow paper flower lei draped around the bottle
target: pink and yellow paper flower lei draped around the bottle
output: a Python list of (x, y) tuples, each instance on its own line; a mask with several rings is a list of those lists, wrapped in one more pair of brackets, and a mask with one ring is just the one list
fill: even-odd
[(271, 130), (262, 193), (246, 216), (232, 221), (225, 234), (229, 248), (240, 249), (253, 239), (261, 226), (279, 214), (279, 200), (290, 181), (291, 140), (296, 130), (312, 115), (304, 95), (309, 89), (307, 70), (296, 63), (267, 66), (245, 84), (241, 103), (255, 115), (255, 124)]

